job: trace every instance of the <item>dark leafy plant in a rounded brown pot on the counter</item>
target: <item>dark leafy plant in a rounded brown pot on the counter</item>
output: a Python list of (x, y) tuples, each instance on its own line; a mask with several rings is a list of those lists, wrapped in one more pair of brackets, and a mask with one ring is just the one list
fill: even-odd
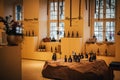
[(23, 40), (23, 27), (22, 23), (14, 21), (12, 16), (0, 17), (0, 22), (3, 22), (3, 28), (7, 34), (8, 45), (18, 45)]

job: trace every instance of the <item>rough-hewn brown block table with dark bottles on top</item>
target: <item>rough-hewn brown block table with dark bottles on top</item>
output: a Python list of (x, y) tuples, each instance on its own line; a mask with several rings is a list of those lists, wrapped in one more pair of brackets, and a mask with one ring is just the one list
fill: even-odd
[(46, 61), (42, 75), (55, 80), (113, 80), (113, 71), (104, 60), (72, 63), (62, 60)]

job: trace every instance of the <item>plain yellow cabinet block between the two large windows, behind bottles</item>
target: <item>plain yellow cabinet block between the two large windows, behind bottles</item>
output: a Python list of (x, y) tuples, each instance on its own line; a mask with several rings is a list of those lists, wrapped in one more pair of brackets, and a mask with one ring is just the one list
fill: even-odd
[(71, 55), (72, 51), (81, 53), (82, 38), (62, 38), (61, 39), (61, 52), (64, 55)]

